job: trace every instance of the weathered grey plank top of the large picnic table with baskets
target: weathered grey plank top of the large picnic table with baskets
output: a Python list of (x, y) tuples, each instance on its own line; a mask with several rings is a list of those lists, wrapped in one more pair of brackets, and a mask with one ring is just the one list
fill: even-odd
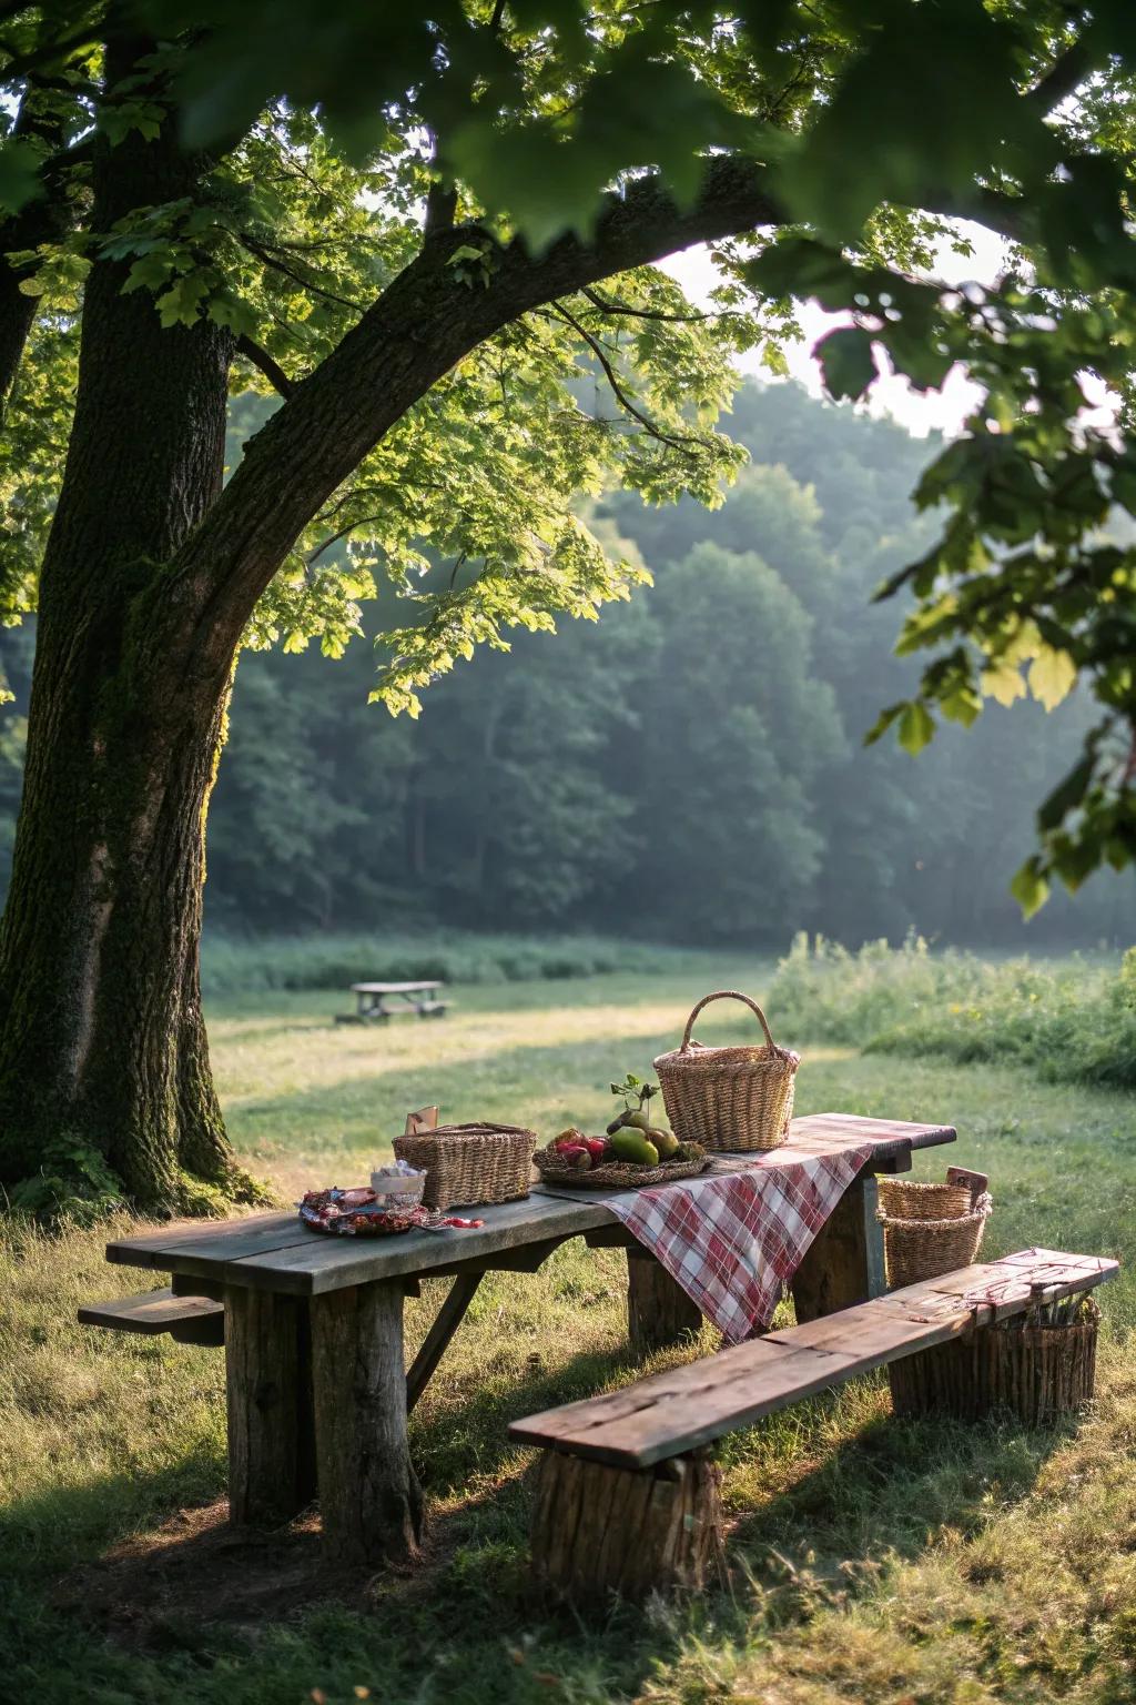
[[(785, 1158), (821, 1154), (870, 1142), (870, 1168), (903, 1165), (913, 1149), (954, 1142), (950, 1125), (911, 1125), (853, 1113), (814, 1113), (794, 1118)], [(727, 1161), (737, 1165), (737, 1161)], [(295, 1212), (250, 1214), (244, 1219), (184, 1221), (118, 1238), (107, 1260), (124, 1267), (152, 1267), (211, 1284), (293, 1296), (320, 1296), (347, 1286), (383, 1279), (429, 1275), (455, 1262), (477, 1262), (528, 1243), (574, 1238), (598, 1226), (617, 1224), (594, 1192), (576, 1197), (536, 1188), (523, 1202), (504, 1202), (477, 1212), (484, 1226), (470, 1231), (409, 1231), (393, 1238), (330, 1238), (310, 1231)]]

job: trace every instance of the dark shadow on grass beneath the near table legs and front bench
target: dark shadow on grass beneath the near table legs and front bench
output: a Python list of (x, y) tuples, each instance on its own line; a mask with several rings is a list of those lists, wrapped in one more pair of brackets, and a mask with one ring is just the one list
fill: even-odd
[[(569, 1696), (634, 1698), (710, 1623), (722, 1640), (743, 1637), (754, 1616), (804, 1621), (838, 1596), (872, 1591), (887, 1553), (916, 1558), (944, 1526), (976, 1531), (991, 1499), (1005, 1507), (1030, 1492), (1063, 1437), (877, 1413), (833, 1446), (835, 1427), (846, 1432), (862, 1420), (870, 1386), (811, 1400), (726, 1446), (727, 1495), (758, 1506), (731, 1536), (744, 1565), (732, 1599), (707, 1594), (649, 1616), (598, 1603), (579, 1616), (533, 1592), (530, 1475), (506, 1425), (634, 1369), (627, 1349), (581, 1352), (508, 1390), (451, 1393), (416, 1417), (414, 1454), (436, 1500), (419, 1569), (329, 1572), (313, 1514), (276, 1533), (228, 1529), (209, 1453), (17, 1502), (5, 1524), (12, 1555), (51, 1536), (19, 1594), (20, 1621), (53, 1642), (56, 1691), (43, 1696), (70, 1696), (66, 1686), (78, 1690), (95, 1662), (107, 1683), (114, 1678), (116, 1700), (143, 1700), (158, 1678), (164, 1686), (181, 1679), (189, 1662), (203, 1683), (186, 1696), (209, 1705), (221, 1683), (240, 1702), (303, 1698), (313, 1686), (349, 1698), (351, 1686), (375, 1676), (383, 1696), (417, 1698), (424, 1664), (448, 1705), (528, 1705), (555, 1696), (550, 1676)], [(852, 1407), (841, 1415), (843, 1402)], [(748, 1488), (751, 1477), (763, 1477), (765, 1488)], [(192, 1492), (213, 1502), (186, 1509)], [(51, 1587), (66, 1562), (68, 1574)], [(756, 1599), (744, 1570), (761, 1587)], [(90, 1632), (104, 1640), (92, 1642)], [(141, 1664), (129, 1685), (118, 1667), (126, 1649)], [(17, 1650), (31, 1666), (24, 1633)], [(336, 1678), (339, 1693), (329, 1686)]]

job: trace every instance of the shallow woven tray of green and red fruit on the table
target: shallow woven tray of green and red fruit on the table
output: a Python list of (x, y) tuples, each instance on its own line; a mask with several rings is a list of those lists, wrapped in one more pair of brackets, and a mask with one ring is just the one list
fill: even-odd
[(673, 1130), (654, 1125), (651, 1098), (657, 1084), (628, 1074), (613, 1083), (611, 1093), (623, 1098), (623, 1112), (611, 1120), (606, 1136), (588, 1137), (574, 1125), (562, 1130), (547, 1149), (536, 1149), (533, 1161), (545, 1183), (574, 1190), (639, 1190), (651, 1183), (695, 1178), (710, 1165), (697, 1142), (680, 1142)]

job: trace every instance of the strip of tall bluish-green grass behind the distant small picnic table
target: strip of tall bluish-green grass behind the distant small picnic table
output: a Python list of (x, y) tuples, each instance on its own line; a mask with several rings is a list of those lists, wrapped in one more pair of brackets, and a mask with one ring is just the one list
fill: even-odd
[(463, 929), (383, 934), (208, 934), (201, 950), (206, 996), (264, 989), (342, 989), (351, 982), (540, 982), (603, 972), (661, 972), (676, 950), (600, 936), (477, 934)]

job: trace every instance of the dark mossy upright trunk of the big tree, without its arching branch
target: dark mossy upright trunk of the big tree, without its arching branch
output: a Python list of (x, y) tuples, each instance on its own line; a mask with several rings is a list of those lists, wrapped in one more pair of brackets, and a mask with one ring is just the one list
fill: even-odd
[[(145, 44), (111, 53), (124, 75)], [(174, 123), (95, 147), (94, 228), (192, 194)], [(164, 329), (92, 268), (66, 474), (44, 552), (27, 767), (0, 924), (0, 1178), (94, 1154), (146, 1209), (235, 1168), (201, 1021), (203, 830), (232, 646), (162, 568), (221, 486), (232, 334)], [(189, 1190), (192, 1195), (192, 1188)]]

